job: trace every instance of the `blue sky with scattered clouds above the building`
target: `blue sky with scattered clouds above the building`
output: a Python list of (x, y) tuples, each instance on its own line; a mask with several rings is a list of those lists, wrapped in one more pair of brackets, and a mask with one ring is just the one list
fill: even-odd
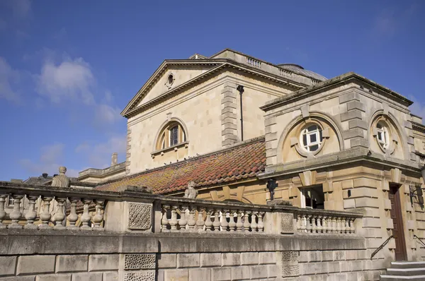
[(0, 1), (0, 180), (124, 161), (120, 112), (157, 66), (227, 47), (355, 71), (425, 116), (424, 13), (420, 0)]

